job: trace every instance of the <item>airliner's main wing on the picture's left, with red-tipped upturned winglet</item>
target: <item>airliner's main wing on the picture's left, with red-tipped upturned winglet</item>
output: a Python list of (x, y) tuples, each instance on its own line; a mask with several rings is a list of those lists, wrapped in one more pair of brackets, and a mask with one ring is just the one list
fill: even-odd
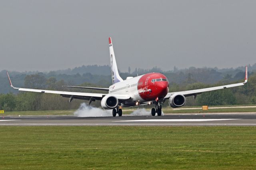
[[(7, 72), (7, 76), (10, 82), (10, 86), (13, 89), (18, 89), (19, 91), (31, 91), (31, 92), (38, 92), (38, 93), (52, 93), (52, 94), (59, 94), (62, 97), (68, 97), (70, 98), (70, 101), (72, 99), (82, 99), (82, 100), (89, 100), (89, 101), (95, 101), (95, 100), (101, 100), (104, 96), (108, 94), (104, 93), (81, 93), (81, 92), (70, 92), (70, 91), (53, 91), (53, 90), (40, 90), (40, 89), (25, 89), (25, 88), (17, 88), (12, 85), (11, 79), (9, 77), (9, 74)], [(130, 99), (130, 96), (128, 95), (114, 95), (118, 98), (118, 100), (128, 100)]]

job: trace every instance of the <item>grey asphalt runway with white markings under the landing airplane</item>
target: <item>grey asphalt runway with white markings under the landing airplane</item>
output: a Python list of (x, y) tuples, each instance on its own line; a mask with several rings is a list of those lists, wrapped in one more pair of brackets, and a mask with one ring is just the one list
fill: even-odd
[(7, 116), (0, 126), (256, 126), (256, 113), (166, 114), (164, 116)]

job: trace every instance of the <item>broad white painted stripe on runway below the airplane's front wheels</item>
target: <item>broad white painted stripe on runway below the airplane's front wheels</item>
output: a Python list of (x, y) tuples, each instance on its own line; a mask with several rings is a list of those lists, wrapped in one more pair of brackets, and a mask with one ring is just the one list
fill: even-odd
[(203, 122), (203, 121), (229, 121), (238, 119), (143, 119), (114, 122)]

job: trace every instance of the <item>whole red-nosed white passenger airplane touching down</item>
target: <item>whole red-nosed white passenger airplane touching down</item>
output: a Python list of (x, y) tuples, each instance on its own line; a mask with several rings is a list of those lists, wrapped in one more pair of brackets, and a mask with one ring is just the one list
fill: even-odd
[(92, 101), (100, 100), (103, 109), (112, 109), (113, 117), (116, 117), (116, 114), (118, 114), (118, 116), (122, 116), (122, 107), (133, 107), (140, 105), (155, 105), (155, 107), (151, 109), (151, 115), (155, 116), (157, 113), (158, 116), (161, 116), (162, 105), (166, 100), (168, 100), (170, 107), (182, 107), (185, 105), (186, 97), (188, 96), (194, 96), (195, 99), (196, 95), (201, 94), (203, 92), (242, 86), (245, 85), (248, 80), (247, 66), (245, 69), (245, 80), (243, 83), (222, 85), (217, 87), (209, 87), (204, 89), (188, 91), (169, 92), (168, 79), (165, 75), (161, 73), (147, 73), (144, 75), (139, 75), (137, 77), (127, 77), (125, 80), (123, 80), (118, 73), (111, 37), (108, 38), (108, 41), (110, 51), (112, 85), (110, 85), (109, 88), (63, 86), (70, 88), (108, 91), (107, 94), (17, 88), (12, 85), (10, 76), (7, 72), (10, 86), (14, 89), (18, 89), (19, 91), (59, 94), (62, 97), (69, 98), (69, 103), (73, 99), (82, 99), (87, 100), (88, 105), (90, 105)]

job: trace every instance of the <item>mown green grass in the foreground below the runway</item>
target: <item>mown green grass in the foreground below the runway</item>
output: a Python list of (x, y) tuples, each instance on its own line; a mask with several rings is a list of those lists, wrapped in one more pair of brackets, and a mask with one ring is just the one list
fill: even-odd
[(0, 127), (0, 169), (255, 169), (256, 127)]

